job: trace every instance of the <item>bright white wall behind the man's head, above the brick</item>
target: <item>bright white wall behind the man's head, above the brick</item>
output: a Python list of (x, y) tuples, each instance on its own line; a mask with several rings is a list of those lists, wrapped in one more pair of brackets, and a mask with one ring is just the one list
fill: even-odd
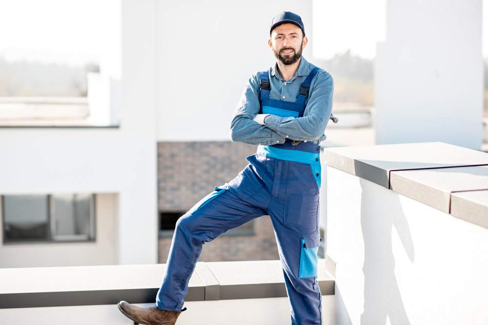
[(284, 10), (302, 18), (312, 61), (311, 0), (158, 2), (159, 141), (230, 141), (246, 80), (276, 62), (267, 39)]

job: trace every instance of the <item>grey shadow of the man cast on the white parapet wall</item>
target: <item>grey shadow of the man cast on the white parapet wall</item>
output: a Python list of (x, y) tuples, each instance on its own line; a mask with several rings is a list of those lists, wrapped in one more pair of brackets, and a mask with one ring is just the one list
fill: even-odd
[(398, 195), (394, 196), (393, 202), (384, 201), (371, 189), (376, 184), (361, 178), (360, 186), (361, 229), (365, 245), (361, 325), (386, 325), (387, 317), (391, 325), (409, 325), (394, 273), (395, 259), (391, 243), (392, 228), (395, 227), (408, 258), (414, 261), (415, 252), (407, 218)]

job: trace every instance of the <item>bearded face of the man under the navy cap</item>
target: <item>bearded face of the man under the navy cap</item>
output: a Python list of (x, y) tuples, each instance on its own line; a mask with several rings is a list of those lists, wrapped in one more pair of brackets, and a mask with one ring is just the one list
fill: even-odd
[(303, 37), (302, 30), (295, 24), (285, 23), (271, 31), (268, 45), (274, 56), (283, 64), (293, 64), (302, 56), (307, 38)]

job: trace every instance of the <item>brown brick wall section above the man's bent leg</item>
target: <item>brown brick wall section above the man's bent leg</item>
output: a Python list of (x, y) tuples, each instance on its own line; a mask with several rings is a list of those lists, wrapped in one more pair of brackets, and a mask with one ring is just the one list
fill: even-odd
[(160, 211), (187, 211), (247, 165), (257, 146), (232, 141), (159, 142)]

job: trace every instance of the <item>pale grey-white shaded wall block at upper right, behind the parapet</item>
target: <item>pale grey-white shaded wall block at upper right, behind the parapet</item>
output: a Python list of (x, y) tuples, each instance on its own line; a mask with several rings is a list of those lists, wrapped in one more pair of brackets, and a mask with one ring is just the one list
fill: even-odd
[(481, 0), (389, 0), (375, 68), (376, 143), (482, 141)]

